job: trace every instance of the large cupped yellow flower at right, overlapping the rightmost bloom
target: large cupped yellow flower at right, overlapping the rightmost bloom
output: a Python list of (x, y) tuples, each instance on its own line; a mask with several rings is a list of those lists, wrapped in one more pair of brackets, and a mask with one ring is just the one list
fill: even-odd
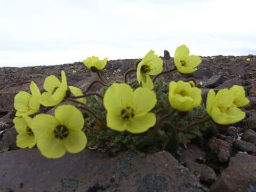
[(234, 94), (228, 89), (222, 89), (215, 94), (211, 89), (207, 94), (206, 110), (212, 117), (213, 121), (226, 125), (237, 123), (245, 117), (245, 113), (234, 107)]

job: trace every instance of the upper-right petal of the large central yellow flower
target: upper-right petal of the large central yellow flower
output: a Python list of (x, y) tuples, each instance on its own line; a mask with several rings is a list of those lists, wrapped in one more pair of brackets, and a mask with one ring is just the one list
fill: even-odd
[(156, 105), (156, 94), (154, 91), (139, 87), (133, 93), (132, 102), (136, 116), (143, 115)]

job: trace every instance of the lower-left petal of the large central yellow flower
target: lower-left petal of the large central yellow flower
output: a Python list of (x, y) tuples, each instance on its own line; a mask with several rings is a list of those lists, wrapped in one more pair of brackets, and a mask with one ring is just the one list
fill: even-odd
[(111, 111), (107, 112), (107, 126), (110, 129), (116, 130), (116, 131), (124, 131), (125, 128), (125, 121), (121, 119), (120, 114), (112, 113)]

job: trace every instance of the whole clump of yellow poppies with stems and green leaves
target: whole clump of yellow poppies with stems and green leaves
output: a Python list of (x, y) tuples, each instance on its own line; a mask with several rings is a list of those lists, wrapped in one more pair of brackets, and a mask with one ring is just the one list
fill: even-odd
[[(209, 124), (241, 121), (245, 113), (240, 107), (250, 102), (244, 88), (234, 85), (218, 93), (210, 90), (205, 109), (196, 79), (171, 81), (166, 86), (160, 76), (177, 70), (190, 74), (201, 63), (198, 56), (189, 55), (186, 45), (177, 48), (175, 66), (166, 71), (163, 60), (150, 50), (134, 69), (126, 71), (124, 82), (107, 83), (103, 79), (101, 70), (107, 58), (93, 56), (83, 63), (99, 76), (84, 92), (68, 86), (62, 70), (61, 81), (53, 75), (45, 78), (45, 92), (41, 93), (32, 81), (30, 93), (20, 91), (15, 95), (17, 112), (13, 123), (19, 133), (18, 147), (36, 145), (47, 158), (59, 158), (66, 151), (78, 153), (86, 146), (112, 152), (131, 149), (144, 154), (172, 150), (202, 137)], [(131, 73), (137, 74), (137, 81), (129, 81)], [(102, 88), (89, 92), (95, 83)], [(53, 107), (54, 116), (39, 113), (41, 106)]]

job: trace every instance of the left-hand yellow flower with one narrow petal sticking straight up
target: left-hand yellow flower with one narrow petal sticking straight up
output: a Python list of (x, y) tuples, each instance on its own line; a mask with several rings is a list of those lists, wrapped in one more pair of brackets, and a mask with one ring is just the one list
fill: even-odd
[(45, 107), (58, 105), (66, 97), (68, 89), (65, 71), (61, 71), (61, 82), (54, 75), (46, 77), (44, 89), (47, 92), (42, 94), (39, 102)]

